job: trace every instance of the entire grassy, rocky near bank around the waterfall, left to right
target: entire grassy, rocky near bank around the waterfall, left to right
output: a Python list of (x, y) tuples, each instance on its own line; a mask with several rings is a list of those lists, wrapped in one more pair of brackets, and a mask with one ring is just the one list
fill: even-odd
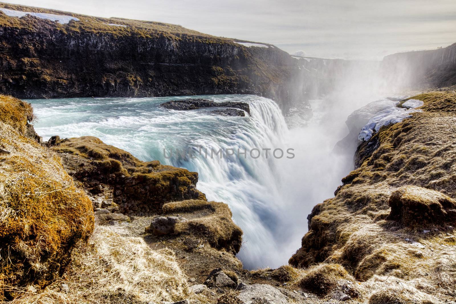
[[(1, 296), (12, 303), (442, 303), (456, 299), (453, 92), (358, 148), (290, 265), (248, 271), (197, 173), (98, 138), (40, 144), (0, 96)], [(404, 100), (399, 103), (401, 106)], [(2, 131), (3, 130), (3, 131)], [(73, 177), (73, 178), (70, 178)], [(7, 253), (7, 255), (5, 255)]]

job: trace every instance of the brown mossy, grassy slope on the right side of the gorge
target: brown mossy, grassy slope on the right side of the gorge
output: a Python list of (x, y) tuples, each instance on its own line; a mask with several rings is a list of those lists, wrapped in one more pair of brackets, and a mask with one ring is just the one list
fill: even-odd
[[(363, 154), (368, 143), (360, 147), (360, 167), (342, 180), (334, 198), (314, 208), (302, 247), (290, 259), (298, 267), (341, 264), (372, 303), (434, 303), (456, 297), (452, 286), (431, 275), (437, 272), (455, 281), (456, 238), (450, 226), (456, 223), (442, 221), (435, 213), (415, 214), (424, 219), (418, 222), (389, 218), (390, 196), (401, 186), (425, 188), (415, 193), (417, 205), (427, 193), (432, 196), (430, 190), (440, 194), (422, 206), (441, 206), (456, 198), (456, 93), (412, 98), (424, 101), (423, 112), (382, 127), (371, 139), (379, 143), (372, 154)], [(443, 194), (451, 199), (438, 199)]]

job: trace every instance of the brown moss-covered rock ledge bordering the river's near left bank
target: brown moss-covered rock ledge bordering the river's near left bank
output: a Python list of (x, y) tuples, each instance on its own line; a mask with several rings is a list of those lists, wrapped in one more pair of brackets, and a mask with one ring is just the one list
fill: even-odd
[(97, 137), (65, 139), (53, 149), (61, 153), (65, 168), (85, 188), (109, 185), (122, 213), (145, 215), (161, 210), (169, 201), (206, 199), (195, 188), (198, 173), (159, 161), (140, 161)]

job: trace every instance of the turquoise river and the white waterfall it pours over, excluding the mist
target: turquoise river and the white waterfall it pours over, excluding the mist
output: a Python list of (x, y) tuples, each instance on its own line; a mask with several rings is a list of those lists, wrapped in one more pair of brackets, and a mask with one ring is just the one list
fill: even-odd
[[(140, 159), (158, 159), (198, 172), (198, 189), (209, 200), (227, 203), (234, 221), (244, 231), (243, 249), (238, 254), (244, 267), (280, 266), (286, 263), (290, 252), (281, 252), (288, 238), (277, 233), (283, 229), (283, 215), (287, 211), (279, 189), (279, 181), (284, 177), (278, 168), (279, 159), (272, 152), (283, 148), (284, 158), (287, 155), (284, 117), (272, 100), (254, 95), (201, 97), (248, 102), (251, 117), (212, 115), (205, 109), (174, 111), (158, 106), (185, 97), (29, 101), (39, 117), (36, 131), (45, 138), (97, 136)], [(247, 155), (192, 158), (176, 153), (199, 147), (209, 151), (239, 149)], [(263, 151), (260, 157), (252, 158), (249, 151), (254, 148), (272, 150), (267, 158)]]

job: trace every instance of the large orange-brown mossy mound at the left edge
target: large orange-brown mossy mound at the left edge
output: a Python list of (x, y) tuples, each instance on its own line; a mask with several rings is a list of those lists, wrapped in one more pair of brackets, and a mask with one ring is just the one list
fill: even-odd
[(31, 105), (0, 96), (0, 299), (47, 286), (93, 231), (90, 200), (37, 143), (33, 117)]

